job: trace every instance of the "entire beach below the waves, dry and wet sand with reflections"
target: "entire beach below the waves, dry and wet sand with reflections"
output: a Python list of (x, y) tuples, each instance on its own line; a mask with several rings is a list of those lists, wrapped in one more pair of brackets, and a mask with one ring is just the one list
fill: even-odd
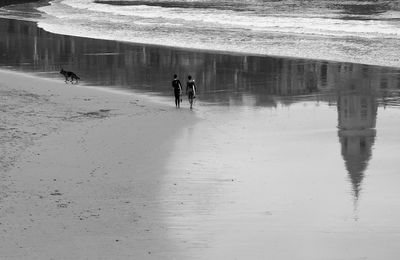
[[(1, 259), (400, 255), (397, 61), (101, 40), (2, 17)], [(175, 108), (174, 73), (195, 78), (193, 110), (185, 96)]]

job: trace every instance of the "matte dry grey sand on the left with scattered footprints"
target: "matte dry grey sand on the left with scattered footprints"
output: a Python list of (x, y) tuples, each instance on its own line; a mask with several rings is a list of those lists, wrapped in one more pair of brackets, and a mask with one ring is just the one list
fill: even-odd
[(1, 259), (174, 251), (151, 205), (193, 112), (61, 79), (9, 71), (0, 79)]

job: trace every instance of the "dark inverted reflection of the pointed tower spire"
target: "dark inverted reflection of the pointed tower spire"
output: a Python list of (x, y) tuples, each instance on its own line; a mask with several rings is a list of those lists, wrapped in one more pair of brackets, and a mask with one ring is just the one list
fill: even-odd
[(373, 91), (370, 85), (362, 84), (338, 89), (338, 135), (355, 202), (376, 136), (377, 100)]

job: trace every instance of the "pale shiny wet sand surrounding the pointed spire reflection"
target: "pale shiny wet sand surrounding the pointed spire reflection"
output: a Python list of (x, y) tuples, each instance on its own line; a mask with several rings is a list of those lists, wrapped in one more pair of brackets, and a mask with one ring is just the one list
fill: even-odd
[(205, 113), (178, 139), (166, 176), (179, 185), (166, 200), (183, 200), (165, 210), (184, 251), (203, 259), (396, 259), (400, 114), (368, 106), (365, 124), (381, 113), (376, 130), (308, 102)]

